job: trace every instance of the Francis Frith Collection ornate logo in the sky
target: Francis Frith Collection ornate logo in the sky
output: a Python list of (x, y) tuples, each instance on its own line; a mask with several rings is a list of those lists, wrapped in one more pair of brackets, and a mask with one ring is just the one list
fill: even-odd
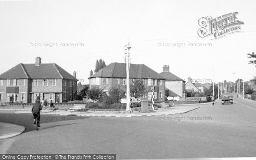
[(198, 29), (198, 36), (204, 38), (213, 35), (213, 39), (217, 39), (231, 33), (241, 32), (241, 24), (244, 24), (244, 22), (238, 20), (237, 15), (238, 12), (233, 12), (217, 18), (201, 17), (198, 20), (198, 24), (201, 26)]

